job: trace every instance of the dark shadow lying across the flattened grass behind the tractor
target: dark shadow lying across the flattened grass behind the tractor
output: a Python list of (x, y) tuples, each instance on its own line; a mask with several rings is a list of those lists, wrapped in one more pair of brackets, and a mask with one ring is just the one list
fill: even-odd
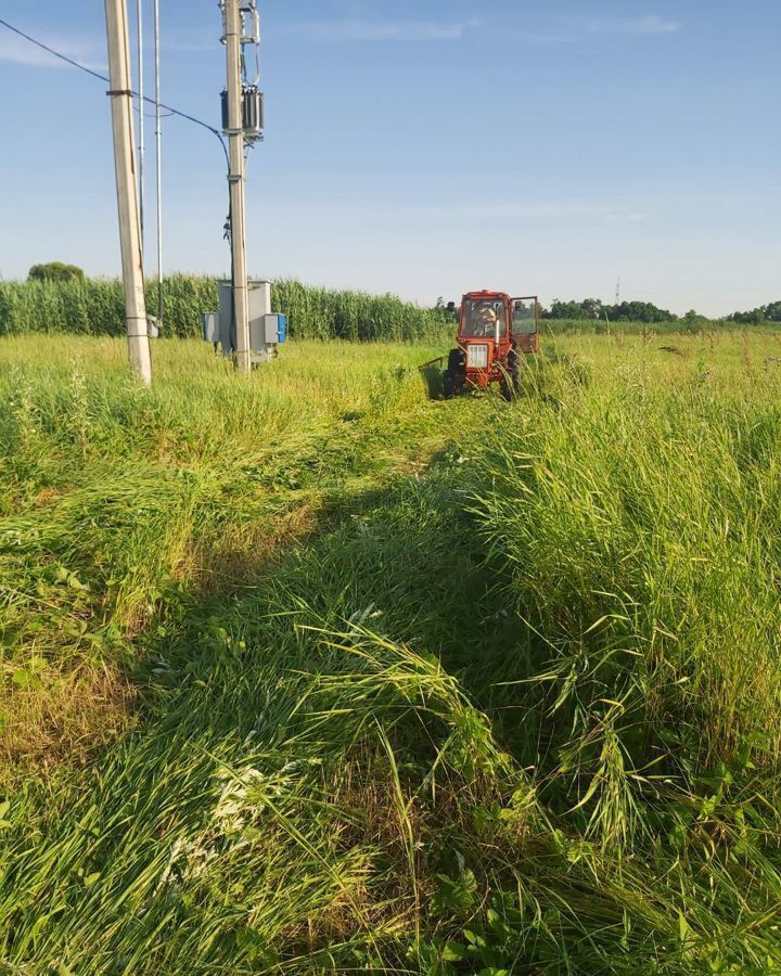
[[(530, 677), (539, 647), (507, 605), (505, 575), (496, 561), (488, 564), (465, 511), (462, 460), (446, 448), (423, 475), (336, 491), (317, 508), (294, 505), (199, 552), (199, 586), (164, 594), (158, 626), (131, 676), (151, 710), (157, 718), (182, 706), (191, 711), (179, 693), (213, 685), (218, 675), (248, 688), (270, 655), (281, 655), (279, 671), (338, 670), (302, 628), (340, 632), (369, 619), (389, 641), (438, 659), (482, 710), (500, 719), (508, 705), (501, 682)], [(254, 693), (233, 702), (236, 734), (248, 734), (257, 707)], [(508, 716), (497, 731), (516, 752), (529, 737), (517, 715)], [(214, 711), (204, 716), (213, 719)], [(521, 753), (523, 761), (532, 755)]]

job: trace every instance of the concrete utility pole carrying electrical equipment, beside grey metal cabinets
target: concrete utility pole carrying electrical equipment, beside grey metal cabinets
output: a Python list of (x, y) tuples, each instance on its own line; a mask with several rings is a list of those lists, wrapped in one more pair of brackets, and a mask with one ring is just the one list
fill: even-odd
[(228, 143), (231, 202), (231, 251), (233, 267), (233, 318), (236, 369), (252, 371), (249, 306), (247, 296), (246, 234), (244, 230), (244, 111), (241, 69), (243, 21), (239, 0), (225, 0), (226, 54), (228, 60)]

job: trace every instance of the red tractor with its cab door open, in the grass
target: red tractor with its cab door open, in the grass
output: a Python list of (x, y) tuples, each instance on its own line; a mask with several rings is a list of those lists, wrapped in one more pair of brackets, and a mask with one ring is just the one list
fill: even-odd
[(458, 346), (450, 350), (443, 376), (445, 396), (498, 383), (510, 399), (518, 386), (523, 357), (539, 351), (538, 318), (536, 296), (468, 292), (458, 312)]

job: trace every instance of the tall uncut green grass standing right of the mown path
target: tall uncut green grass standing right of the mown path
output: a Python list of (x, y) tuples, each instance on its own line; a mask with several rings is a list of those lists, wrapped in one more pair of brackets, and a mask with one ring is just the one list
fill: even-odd
[(700, 362), (660, 387), (653, 359), (622, 355), (592, 388), (532, 368), (473, 449), (472, 511), (527, 625), (503, 667), (513, 703), (529, 695), (524, 758), (545, 736), (611, 844), (657, 788), (729, 808), (764, 783), (774, 805), (781, 755), (779, 376)]

